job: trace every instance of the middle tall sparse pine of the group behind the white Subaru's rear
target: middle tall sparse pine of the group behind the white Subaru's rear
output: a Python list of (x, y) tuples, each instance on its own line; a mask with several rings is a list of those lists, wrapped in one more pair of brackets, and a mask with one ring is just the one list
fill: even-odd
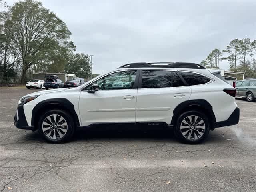
[(223, 57), (223, 60), (228, 60), (230, 63), (230, 69), (236, 68), (236, 61), (240, 55), (240, 40), (234, 39), (230, 41), (226, 49), (222, 50), (224, 53), (228, 53), (227, 57)]

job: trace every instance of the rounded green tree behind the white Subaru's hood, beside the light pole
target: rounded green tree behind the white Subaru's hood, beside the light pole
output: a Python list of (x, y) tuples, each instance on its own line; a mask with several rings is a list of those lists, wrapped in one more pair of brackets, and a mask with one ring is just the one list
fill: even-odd
[(64, 72), (76, 74), (80, 78), (90, 78), (91, 66), (89, 56), (83, 53), (72, 54)]

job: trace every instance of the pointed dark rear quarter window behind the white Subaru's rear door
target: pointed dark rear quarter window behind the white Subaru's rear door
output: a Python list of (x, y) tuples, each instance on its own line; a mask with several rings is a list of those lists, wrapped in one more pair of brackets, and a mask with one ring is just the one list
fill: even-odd
[(184, 80), (188, 83), (188, 85), (200, 85), (210, 81), (209, 78), (197, 73), (180, 72), (180, 74), (182, 75)]

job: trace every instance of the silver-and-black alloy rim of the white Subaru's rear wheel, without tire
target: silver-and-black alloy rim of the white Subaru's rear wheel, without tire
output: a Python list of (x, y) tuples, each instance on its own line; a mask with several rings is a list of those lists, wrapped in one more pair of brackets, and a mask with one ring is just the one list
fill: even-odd
[(180, 124), (180, 131), (186, 139), (197, 140), (204, 135), (204, 120), (196, 115), (187, 116)]

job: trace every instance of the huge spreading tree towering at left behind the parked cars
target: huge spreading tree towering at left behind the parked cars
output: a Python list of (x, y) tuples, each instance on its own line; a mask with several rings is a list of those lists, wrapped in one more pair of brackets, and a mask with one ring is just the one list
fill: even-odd
[(16, 2), (8, 14), (5, 33), (12, 55), (22, 68), (22, 83), (31, 66), (55, 62), (56, 58), (63, 57), (63, 49), (65, 53), (75, 49), (66, 24), (41, 2)]

